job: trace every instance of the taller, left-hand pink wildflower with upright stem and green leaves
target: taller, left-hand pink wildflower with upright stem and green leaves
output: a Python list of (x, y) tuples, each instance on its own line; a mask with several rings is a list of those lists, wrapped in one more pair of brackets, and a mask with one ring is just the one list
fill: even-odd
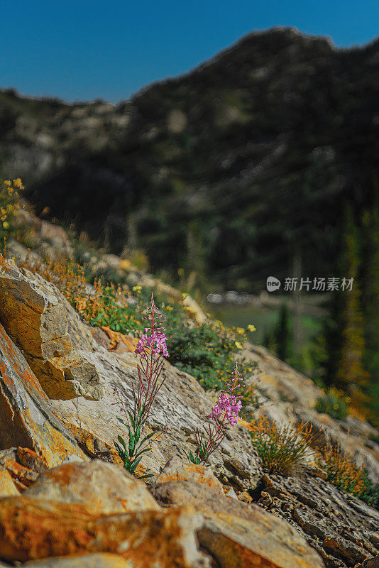
[[(165, 329), (160, 325), (161, 318), (152, 294), (148, 315), (145, 317), (150, 322), (150, 327), (145, 327), (145, 332), (138, 341), (135, 351), (140, 356), (140, 362), (137, 366), (137, 388), (133, 385), (133, 408), (131, 410), (126, 407), (118, 389), (115, 389), (115, 395), (118, 398), (116, 404), (120, 405), (121, 412), (126, 415), (126, 420), (122, 418), (117, 420), (128, 429), (128, 444), (120, 435), (118, 436), (119, 443), (114, 442), (114, 444), (123, 461), (123, 466), (131, 474), (136, 470), (143, 454), (150, 451), (149, 442), (155, 434), (155, 432), (146, 434), (145, 424), (155, 396), (165, 381), (165, 378), (160, 379), (164, 364), (163, 357), (168, 356)], [(140, 479), (151, 476), (152, 474), (143, 475)]]

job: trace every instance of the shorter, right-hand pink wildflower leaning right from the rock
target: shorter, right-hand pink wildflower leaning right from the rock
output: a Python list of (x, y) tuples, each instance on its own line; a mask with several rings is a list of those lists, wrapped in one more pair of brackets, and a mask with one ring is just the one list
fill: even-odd
[(227, 391), (222, 391), (219, 395), (212, 413), (207, 416), (208, 422), (204, 426), (205, 432), (197, 430), (194, 432), (197, 448), (194, 454), (189, 452), (189, 460), (193, 464), (202, 464), (221, 444), (226, 435), (226, 427), (230, 423), (234, 425), (238, 421), (238, 412), (241, 410), (241, 395), (236, 395), (235, 391), (241, 387), (242, 375), (238, 372), (238, 365), (234, 367), (233, 376), (226, 382)]

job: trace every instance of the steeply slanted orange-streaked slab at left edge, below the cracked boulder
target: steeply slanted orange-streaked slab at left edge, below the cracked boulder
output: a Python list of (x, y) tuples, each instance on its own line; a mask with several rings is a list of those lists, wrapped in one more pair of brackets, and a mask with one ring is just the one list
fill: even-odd
[(1, 324), (0, 375), (0, 447), (33, 449), (49, 467), (67, 454), (87, 459)]

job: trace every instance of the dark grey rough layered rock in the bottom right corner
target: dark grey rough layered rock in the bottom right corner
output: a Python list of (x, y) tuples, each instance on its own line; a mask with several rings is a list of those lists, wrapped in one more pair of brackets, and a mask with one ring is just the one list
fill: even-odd
[(379, 512), (322, 479), (263, 476), (258, 504), (287, 520), (326, 568), (352, 568), (379, 553)]

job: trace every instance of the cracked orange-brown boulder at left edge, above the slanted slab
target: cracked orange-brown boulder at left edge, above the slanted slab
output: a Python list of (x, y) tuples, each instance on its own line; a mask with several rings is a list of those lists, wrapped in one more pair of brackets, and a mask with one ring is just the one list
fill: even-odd
[(0, 320), (50, 398), (102, 397), (96, 365), (83, 350), (92, 351), (89, 330), (53, 284), (26, 269), (19, 271), (3, 257)]

